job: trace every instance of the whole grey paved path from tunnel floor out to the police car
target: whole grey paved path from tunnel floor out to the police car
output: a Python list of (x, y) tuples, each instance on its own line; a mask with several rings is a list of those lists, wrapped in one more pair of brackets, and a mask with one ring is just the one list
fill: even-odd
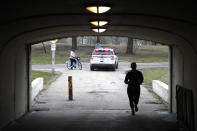
[[(131, 115), (125, 71), (62, 70), (40, 93), (32, 112), (6, 130), (28, 131), (174, 131), (176, 116), (141, 86), (139, 111)], [(68, 76), (73, 77), (73, 101), (68, 100)]]

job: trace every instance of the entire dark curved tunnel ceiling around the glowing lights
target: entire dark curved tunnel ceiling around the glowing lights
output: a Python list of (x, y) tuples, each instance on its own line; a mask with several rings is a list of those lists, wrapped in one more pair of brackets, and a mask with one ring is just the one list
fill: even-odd
[[(86, 5), (110, 5), (101, 15), (85, 10)], [(13, 1), (2, 3), (0, 24), (8, 37), (26, 37), (28, 42), (78, 35), (115, 35), (172, 44), (173, 37), (191, 42), (189, 34), (197, 25), (193, 3), (131, 0)], [(92, 19), (105, 19), (107, 31), (91, 31)], [(27, 37), (28, 36), (28, 37)], [(25, 38), (24, 38), (25, 39)]]

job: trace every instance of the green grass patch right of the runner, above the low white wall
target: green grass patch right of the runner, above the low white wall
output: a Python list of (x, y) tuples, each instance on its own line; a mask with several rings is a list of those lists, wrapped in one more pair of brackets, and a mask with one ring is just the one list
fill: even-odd
[(168, 69), (143, 69), (145, 84), (151, 84), (152, 80), (160, 80), (168, 84)]

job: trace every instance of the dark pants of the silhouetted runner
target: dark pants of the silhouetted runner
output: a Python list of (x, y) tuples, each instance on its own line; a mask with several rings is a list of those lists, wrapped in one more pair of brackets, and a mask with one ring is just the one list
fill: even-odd
[(140, 98), (140, 86), (128, 86), (127, 94), (129, 97), (130, 107), (134, 108), (134, 105), (137, 106)]

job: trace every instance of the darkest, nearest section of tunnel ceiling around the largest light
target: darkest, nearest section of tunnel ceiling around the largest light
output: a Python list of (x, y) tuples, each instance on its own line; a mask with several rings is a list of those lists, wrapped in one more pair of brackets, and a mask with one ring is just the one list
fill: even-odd
[[(0, 20), (3, 22), (12, 21), (15, 19), (22, 19), (33, 16), (42, 15), (56, 15), (56, 14), (66, 14), (66, 15), (90, 15), (88, 11), (85, 10), (86, 5), (95, 4), (105, 4), (110, 5), (112, 9), (107, 12), (109, 15), (125, 15), (125, 14), (140, 14), (148, 16), (159, 16), (171, 19), (177, 19), (182, 21), (187, 21), (191, 23), (196, 23), (196, 6), (192, 2), (177, 2), (177, 1), (158, 1), (158, 0), (29, 0), (26, 2), (19, 1), (7, 1), (7, 3), (2, 3), (0, 5), (1, 15)], [(6, 14), (6, 15), (5, 15)], [(94, 16), (92, 14), (92, 16)], [(124, 16), (123, 16), (124, 17)], [(116, 23), (118, 19), (113, 22)], [(122, 21), (122, 19), (119, 19)], [(79, 22), (79, 21), (77, 21)], [(87, 24), (85, 22), (84, 24)]]

